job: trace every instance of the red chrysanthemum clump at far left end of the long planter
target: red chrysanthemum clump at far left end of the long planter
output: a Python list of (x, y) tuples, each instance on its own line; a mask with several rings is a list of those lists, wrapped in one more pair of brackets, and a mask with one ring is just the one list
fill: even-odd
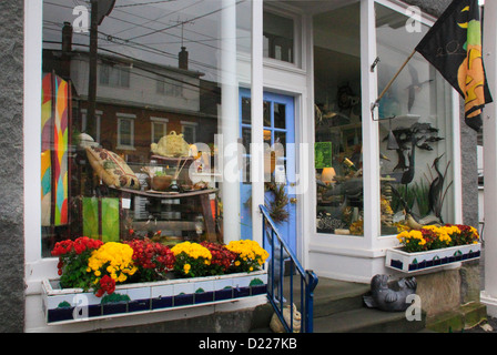
[(52, 256), (59, 256), (57, 267), (62, 287), (90, 288), (92, 280), (87, 273), (88, 260), (91, 253), (102, 244), (102, 241), (87, 236), (78, 237), (74, 241), (67, 240), (55, 243)]

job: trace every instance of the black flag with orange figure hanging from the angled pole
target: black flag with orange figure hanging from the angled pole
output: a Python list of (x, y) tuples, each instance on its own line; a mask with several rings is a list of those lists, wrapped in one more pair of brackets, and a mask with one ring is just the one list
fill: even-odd
[(481, 58), (478, 0), (454, 0), (416, 47), (465, 99), (465, 122), (481, 128), (481, 110), (491, 102)]

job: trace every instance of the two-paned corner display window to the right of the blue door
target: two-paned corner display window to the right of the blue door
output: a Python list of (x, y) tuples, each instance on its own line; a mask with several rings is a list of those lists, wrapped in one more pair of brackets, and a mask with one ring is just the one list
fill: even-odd
[[(364, 14), (366, 16), (366, 14)], [(381, 93), (428, 31), (388, 7), (375, 3), (374, 70)], [(361, 3), (313, 18), (315, 78), (316, 232), (364, 235), (363, 158), (381, 166), (379, 235), (406, 225), (453, 223), (453, 90), (419, 54), (379, 101), (379, 154), (363, 152)], [(376, 139), (376, 138), (375, 138)], [(376, 189), (376, 187), (375, 187)]]

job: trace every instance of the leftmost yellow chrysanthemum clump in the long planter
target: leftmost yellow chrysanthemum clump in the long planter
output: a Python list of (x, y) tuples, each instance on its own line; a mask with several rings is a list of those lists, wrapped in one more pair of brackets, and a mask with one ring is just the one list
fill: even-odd
[(133, 248), (123, 243), (109, 242), (91, 253), (87, 272), (93, 276), (95, 296), (112, 294), (115, 284), (123, 283), (136, 272), (133, 264)]

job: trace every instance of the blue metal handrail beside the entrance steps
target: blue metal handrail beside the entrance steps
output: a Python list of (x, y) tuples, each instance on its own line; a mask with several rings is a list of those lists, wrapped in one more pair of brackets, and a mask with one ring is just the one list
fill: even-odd
[[(294, 252), (288, 247), (287, 243), (282, 239), (282, 234), (278, 232), (275, 222), (270, 215), (266, 206), (260, 205), (263, 219), (262, 219), (262, 235), (263, 246), (266, 248), (266, 237), (268, 246), (271, 247), (271, 261), (268, 263), (268, 282), (267, 282), (267, 298), (273, 305), (273, 308), (282, 322), (285, 331), (293, 333), (294, 320), (293, 310), (290, 312), (290, 324), (283, 316), (285, 298), (283, 280), (285, 261), (290, 260), (290, 306), (294, 304), (294, 270), (301, 277), (301, 332), (313, 333), (313, 303), (314, 303), (314, 288), (317, 286), (317, 276), (314, 272), (304, 270), (295, 256)], [(276, 239), (275, 239), (276, 237)], [(275, 241), (276, 240), (276, 241)], [(267, 248), (266, 248), (267, 250)], [(277, 262), (276, 262), (277, 260)], [(275, 292), (276, 291), (276, 292)]]

